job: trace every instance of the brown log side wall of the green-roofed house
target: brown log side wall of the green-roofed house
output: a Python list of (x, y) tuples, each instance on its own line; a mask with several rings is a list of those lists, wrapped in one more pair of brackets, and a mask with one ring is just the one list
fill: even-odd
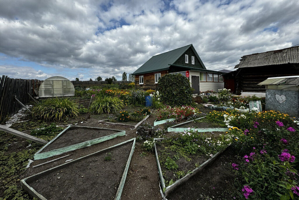
[[(157, 87), (157, 83), (155, 83), (155, 74), (157, 73), (161, 73), (162, 77), (165, 74), (168, 74), (168, 70), (135, 75), (135, 87), (142, 90), (155, 90)], [(143, 84), (139, 84), (139, 76), (143, 76)]]

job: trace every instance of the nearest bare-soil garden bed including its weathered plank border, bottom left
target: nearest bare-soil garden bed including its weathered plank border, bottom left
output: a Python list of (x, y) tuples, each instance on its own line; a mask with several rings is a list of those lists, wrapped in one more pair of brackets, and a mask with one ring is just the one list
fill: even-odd
[(120, 199), (135, 138), (21, 180), (38, 199)]

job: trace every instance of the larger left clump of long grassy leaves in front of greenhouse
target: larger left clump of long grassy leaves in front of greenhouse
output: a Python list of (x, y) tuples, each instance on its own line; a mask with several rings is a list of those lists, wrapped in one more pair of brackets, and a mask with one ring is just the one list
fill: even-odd
[(77, 117), (78, 104), (70, 99), (53, 98), (39, 102), (32, 109), (32, 116), (46, 121), (62, 121), (65, 118)]

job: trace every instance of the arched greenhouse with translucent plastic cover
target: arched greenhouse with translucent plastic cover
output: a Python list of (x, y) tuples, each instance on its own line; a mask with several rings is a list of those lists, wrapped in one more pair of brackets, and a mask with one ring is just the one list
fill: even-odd
[(70, 80), (61, 76), (45, 79), (39, 86), (39, 97), (74, 96), (75, 88)]

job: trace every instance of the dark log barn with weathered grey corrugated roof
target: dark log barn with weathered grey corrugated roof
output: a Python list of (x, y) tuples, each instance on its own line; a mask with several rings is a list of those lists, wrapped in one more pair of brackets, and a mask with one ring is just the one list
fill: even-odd
[(258, 83), (270, 77), (299, 75), (299, 46), (242, 56), (235, 68), (224, 79), (235, 77), (237, 94), (265, 96), (265, 87)]

